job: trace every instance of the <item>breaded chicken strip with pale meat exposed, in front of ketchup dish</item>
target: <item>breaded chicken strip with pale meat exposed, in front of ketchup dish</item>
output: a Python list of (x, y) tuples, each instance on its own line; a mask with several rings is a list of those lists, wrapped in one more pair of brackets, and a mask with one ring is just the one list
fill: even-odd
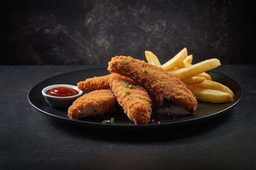
[(110, 88), (85, 93), (68, 108), (70, 119), (79, 117), (103, 115), (117, 109), (118, 102)]

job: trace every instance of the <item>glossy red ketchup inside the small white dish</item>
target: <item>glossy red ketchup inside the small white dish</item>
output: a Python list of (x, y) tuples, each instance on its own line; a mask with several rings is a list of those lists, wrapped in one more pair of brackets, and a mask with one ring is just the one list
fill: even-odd
[(55, 87), (51, 88), (46, 92), (47, 95), (56, 97), (67, 97), (79, 94), (79, 92), (74, 88), (69, 87)]

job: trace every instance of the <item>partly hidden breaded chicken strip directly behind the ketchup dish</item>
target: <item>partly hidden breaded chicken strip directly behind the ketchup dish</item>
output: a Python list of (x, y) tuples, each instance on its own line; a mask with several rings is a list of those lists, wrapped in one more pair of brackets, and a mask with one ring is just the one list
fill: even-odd
[(77, 87), (82, 91), (94, 91), (99, 89), (110, 88), (108, 79), (110, 75), (103, 75), (100, 77), (92, 77), (78, 82)]

